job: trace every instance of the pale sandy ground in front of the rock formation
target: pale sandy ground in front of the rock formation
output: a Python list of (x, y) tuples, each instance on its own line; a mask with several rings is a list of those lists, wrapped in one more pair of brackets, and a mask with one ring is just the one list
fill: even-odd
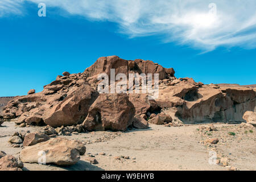
[[(201, 125), (200, 125), (201, 126)], [(205, 124), (207, 126), (207, 124)], [(256, 130), (241, 129), (239, 125), (214, 124), (218, 131), (210, 134), (198, 131), (199, 125), (164, 127), (150, 125), (147, 130), (130, 129), (124, 133), (97, 131), (73, 134), (69, 139), (79, 139), (86, 144), (86, 154), (71, 167), (24, 163), (27, 170), (228, 170), (217, 164), (210, 165), (209, 151), (217, 152), (219, 158), (229, 158), (229, 166), (240, 170), (256, 170)], [(0, 127), (0, 150), (19, 156), (22, 148), (9, 146), (14, 131), (40, 131), (42, 127), (16, 127), (13, 122)], [(235, 136), (228, 135), (234, 131)], [(247, 131), (247, 133), (245, 132)], [(217, 137), (220, 142), (204, 146), (201, 140)], [(100, 155), (104, 152), (106, 155)], [(98, 164), (85, 160), (93, 155)], [(130, 159), (115, 159), (129, 156)]]

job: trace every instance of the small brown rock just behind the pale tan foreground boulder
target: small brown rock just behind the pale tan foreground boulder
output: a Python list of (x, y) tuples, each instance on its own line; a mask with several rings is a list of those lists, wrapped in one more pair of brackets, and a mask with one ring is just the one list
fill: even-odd
[(46, 142), (49, 139), (50, 138), (43, 133), (30, 133), (27, 134), (26, 137), (24, 137), (23, 147), (32, 146), (40, 142)]

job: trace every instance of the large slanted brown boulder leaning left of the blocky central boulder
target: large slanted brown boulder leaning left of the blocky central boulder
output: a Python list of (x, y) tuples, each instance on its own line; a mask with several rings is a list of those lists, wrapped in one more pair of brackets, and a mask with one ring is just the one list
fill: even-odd
[(59, 104), (46, 110), (43, 115), (44, 122), (52, 127), (82, 123), (88, 114), (90, 105), (97, 97), (97, 90), (89, 85), (83, 85)]

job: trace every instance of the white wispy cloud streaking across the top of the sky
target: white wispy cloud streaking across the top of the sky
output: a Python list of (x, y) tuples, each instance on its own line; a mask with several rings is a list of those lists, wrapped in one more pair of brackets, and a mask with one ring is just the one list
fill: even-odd
[(89, 20), (115, 22), (130, 38), (162, 35), (163, 42), (205, 51), (219, 46), (256, 48), (253, 0), (1, 0), (0, 12), (19, 14), (28, 1)]

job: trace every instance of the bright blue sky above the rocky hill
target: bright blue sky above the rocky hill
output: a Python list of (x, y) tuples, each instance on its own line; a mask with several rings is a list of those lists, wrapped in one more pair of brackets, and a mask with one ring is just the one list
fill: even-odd
[[(98, 57), (111, 55), (127, 60), (152, 60), (163, 67), (174, 68), (176, 77), (192, 77), (205, 84), (256, 84), (255, 10), (251, 11), (253, 16), (246, 16), (249, 26), (248, 23), (247, 27), (245, 24), (234, 26), (246, 19), (237, 18), (240, 16), (236, 13), (233, 21), (231, 17), (229, 24), (224, 22), (225, 30), (222, 28), (214, 35), (209, 31), (216, 28), (216, 23), (211, 26), (204, 19), (194, 19), (195, 24), (189, 29), (190, 24), (183, 26), (187, 16), (183, 16), (185, 20), (175, 20), (181, 21), (182, 26), (164, 22), (163, 18), (150, 22), (143, 14), (135, 18), (129, 13), (122, 14), (124, 10), (120, 13), (109, 9), (100, 14), (108, 5), (98, 5), (97, 8), (102, 7), (98, 10), (92, 5), (93, 1), (86, 5), (85, 1), (79, 2), (83, 3), (67, 9), (60, 1), (45, 1), (46, 17), (38, 16), (36, 0), (21, 0), (17, 4), (3, 0), (2, 6), (0, 3), (0, 96), (24, 95), (30, 89), (40, 92), (62, 72), (83, 72)], [(7, 6), (8, 3), (11, 6)], [(89, 13), (84, 13), (82, 7)], [(144, 12), (143, 8), (139, 10)], [(226, 9), (221, 10), (223, 14)], [(160, 25), (156, 26), (156, 22)], [(202, 29), (202, 26), (210, 27)], [(188, 30), (197, 33), (188, 36)], [(232, 31), (238, 33), (230, 36)]]

